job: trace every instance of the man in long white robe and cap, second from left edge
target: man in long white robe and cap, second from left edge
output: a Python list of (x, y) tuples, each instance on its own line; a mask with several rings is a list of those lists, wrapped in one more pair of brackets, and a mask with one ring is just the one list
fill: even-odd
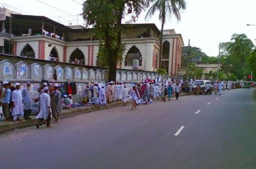
[(22, 106), (22, 93), (20, 91), (20, 83), (15, 83), (16, 90), (12, 92), (11, 103), (12, 103), (12, 116), (14, 122), (21, 121), (20, 115), (23, 114)]

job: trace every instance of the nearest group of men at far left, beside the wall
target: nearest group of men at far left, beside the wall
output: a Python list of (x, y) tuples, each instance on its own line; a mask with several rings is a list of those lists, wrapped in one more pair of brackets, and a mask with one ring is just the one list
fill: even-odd
[(38, 88), (39, 97), (37, 99), (31, 97), (30, 82), (27, 82), (26, 87), (21, 90), (20, 83), (15, 83), (12, 86), (10, 82), (5, 81), (3, 88), (5, 91), (0, 106), (2, 106), (5, 121), (21, 121), (21, 115), (24, 115), (25, 120), (31, 120), (32, 105), (38, 102), (37, 128), (43, 123), (46, 123), (46, 127), (51, 127), (51, 116), (54, 118), (54, 122), (58, 122), (61, 110), (70, 108), (73, 104), (72, 95), (62, 97), (58, 83), (55, 83), (53, 87), (50, 87), (46, 82), (42, 83), (42, 86)]

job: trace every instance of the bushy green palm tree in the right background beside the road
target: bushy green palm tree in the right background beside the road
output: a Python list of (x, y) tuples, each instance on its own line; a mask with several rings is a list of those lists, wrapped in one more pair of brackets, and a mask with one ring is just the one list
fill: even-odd
[(242, 65), (243, 79), (245, 75), (245, 61), (246, 57), (250, 55), (253, 49), (253, 42), (245, 34), (233, 34), (231, 37), (233, 41), (227, 48), (229, 54), (237, 59), (238, 63)]

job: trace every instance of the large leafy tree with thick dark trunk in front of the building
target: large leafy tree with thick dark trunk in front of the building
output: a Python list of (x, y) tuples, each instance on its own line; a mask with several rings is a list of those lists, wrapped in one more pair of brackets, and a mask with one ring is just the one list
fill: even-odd
[(116, 65), (122, 63), (124, 45), (121, 42), (122, 19), (136, 21), (144, 9), (144, 0), (87, 0), (83, 3), (83, 18), (87, 27), (102, 39), (99, 58), (106, 57), (109, 64), (109, 81), (116, 81)]

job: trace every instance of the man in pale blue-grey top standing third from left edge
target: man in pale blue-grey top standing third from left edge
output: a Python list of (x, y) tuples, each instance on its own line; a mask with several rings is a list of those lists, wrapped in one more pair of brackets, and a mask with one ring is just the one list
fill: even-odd
[(22, 91), (23, 105), (24, 105), (24, 119), (31, 119), (32, 99), (31, 99), (31, 83), (27, 82), (27, 87)]

